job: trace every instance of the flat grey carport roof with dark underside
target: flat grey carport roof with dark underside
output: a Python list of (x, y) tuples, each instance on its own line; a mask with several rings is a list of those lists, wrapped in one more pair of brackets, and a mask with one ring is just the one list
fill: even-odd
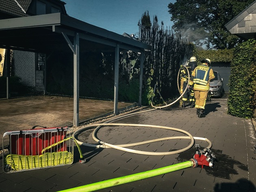
[(41, 53), (70, 52), (76, 33), (80, 37), (80, 52), (114, 52), (117, 45), (120, 50), (151, 50), (148, 44), (61, 13), (0, 20), (2, 48)]

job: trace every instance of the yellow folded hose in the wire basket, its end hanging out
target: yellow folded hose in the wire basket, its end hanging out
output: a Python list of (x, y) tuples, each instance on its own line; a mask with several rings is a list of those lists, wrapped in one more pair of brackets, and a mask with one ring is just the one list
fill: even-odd
[[(65, 138), (59, 142), (56, 142), (46, 148), (44, 148), (41, 153), (42, 155), (17, 155), (9, 154), (4, 158), (4, 165), (11, 166), (11, 169), (18, 170), (28, 170), (34, 168), (45, 168), (49, 166), (56, 165), (67, 165), (73, 163), (73, 153), (68, 151), (57, 151), (57, 152), (46, 152), (48, 149), (65, 142), (66, 140), (73, 139), (73, 137)], [(78, 151), (80, 153), (80, 158), (83, 158), (81, 149), (76, 142)]]

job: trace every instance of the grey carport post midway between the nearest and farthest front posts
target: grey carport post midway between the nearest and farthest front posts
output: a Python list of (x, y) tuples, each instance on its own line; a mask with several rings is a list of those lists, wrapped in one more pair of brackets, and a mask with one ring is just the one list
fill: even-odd
[(114, 86), (114, 114), (118, 114), (118, 74), (119, 74), (119, 45), (115, 47), (115, 86)]

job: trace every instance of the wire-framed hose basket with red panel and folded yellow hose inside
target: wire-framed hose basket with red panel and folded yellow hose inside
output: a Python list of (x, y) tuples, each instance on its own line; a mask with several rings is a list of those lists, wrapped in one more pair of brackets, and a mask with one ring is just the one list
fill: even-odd
[[(67, 137), (67, 134), (70, 137)], [(5, 173), (25, 171), (73, 163), (73, 129), (51, 127), (24, 131), (6, 132), (9, 139), (9, 154), (3, 155)]]

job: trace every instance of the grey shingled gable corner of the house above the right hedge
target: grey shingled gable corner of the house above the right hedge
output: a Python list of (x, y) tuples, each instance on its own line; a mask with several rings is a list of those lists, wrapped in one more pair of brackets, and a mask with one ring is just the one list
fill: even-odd
[(256, 37), (256, 0), (228, 22), (225, 27), (231, 34), (243, 39)]

